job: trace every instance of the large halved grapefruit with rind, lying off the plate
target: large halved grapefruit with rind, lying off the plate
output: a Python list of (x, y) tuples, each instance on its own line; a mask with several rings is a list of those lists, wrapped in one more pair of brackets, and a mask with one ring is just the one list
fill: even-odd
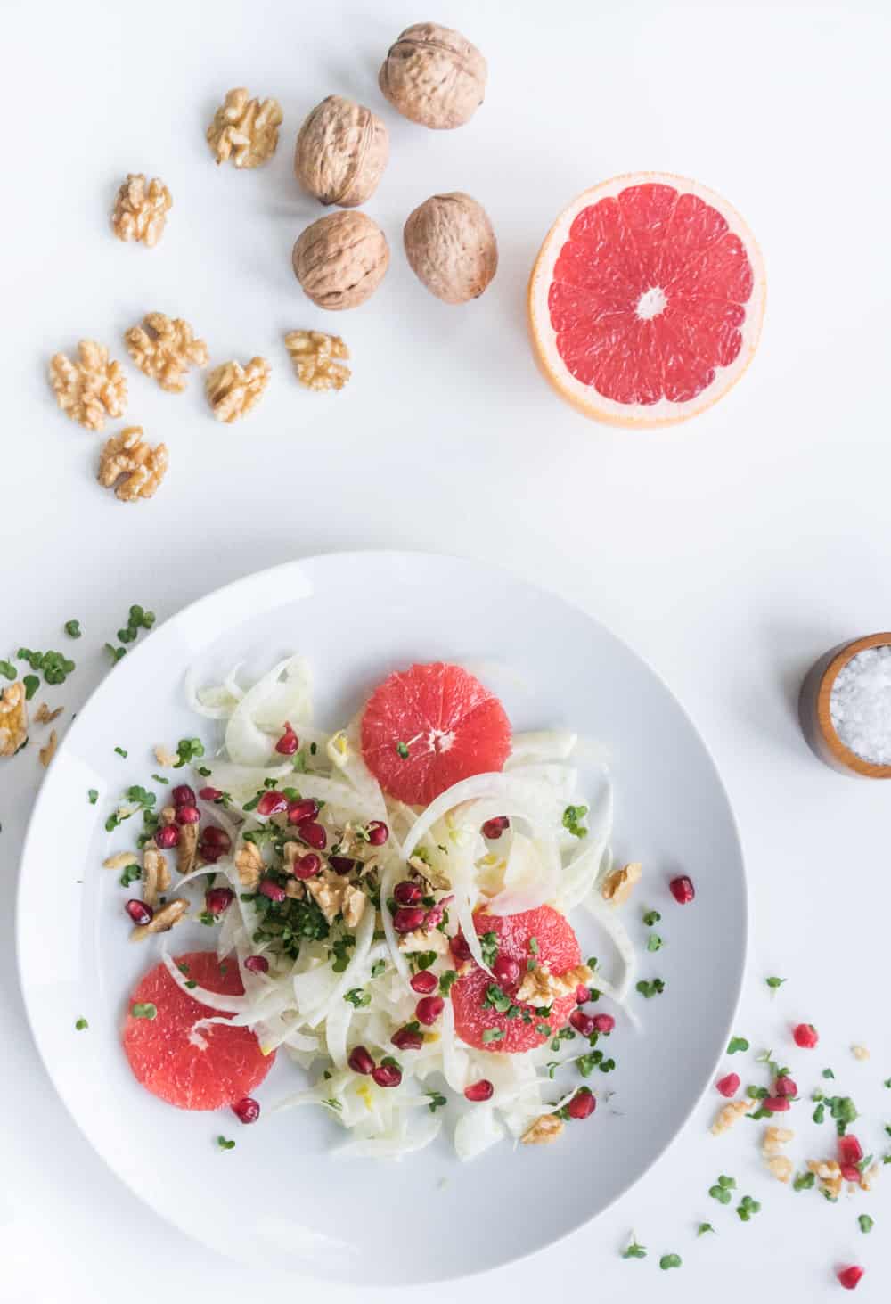
[(735, 209), (696, 181), (638, 172), (580, 194), (529, 282), (533, 349), (586, 416), (657, 426), (705, 411), (752, 361), (765, 267)]

